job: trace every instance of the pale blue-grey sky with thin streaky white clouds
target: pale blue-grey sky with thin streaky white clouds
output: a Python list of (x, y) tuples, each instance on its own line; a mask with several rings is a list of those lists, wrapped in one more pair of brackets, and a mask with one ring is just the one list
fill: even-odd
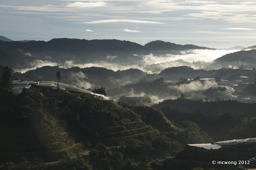
[(0, 35), (248, 47), (256, 45), (255, 9), (252, 0), (0, 0)]

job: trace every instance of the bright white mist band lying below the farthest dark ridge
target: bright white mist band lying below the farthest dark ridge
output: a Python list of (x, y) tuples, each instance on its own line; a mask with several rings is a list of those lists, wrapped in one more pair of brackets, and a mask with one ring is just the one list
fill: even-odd
[[(37, 67), (42, 66), (59, 66), (60, 68), (70, 68), (72, 66), (78, 66), (80, 68), (87, 67), (104, 67), (114, 71), (117, 70), (127, 70), (130, 68), (136, 68), (144, 72), (159, 73), (165, 68), (174, 66), (191, 66), (194, 69), (219, 69), (223, 66), (221, 64), (212, 64), (212, 61), (219, 58), (225, 54), (236, 52), (238, 50), (187, 50), (180, 52), (179, 55), (174, 54), (164, 54), (164, 55), (143, 55), (139, 56), (134, 54), (136, 60), (129, 58), (126, 62), (119, 60), (118, 56), (106, 56), (106, 60), (90, 63), (81, 63), (78, 61), (67, 60), (62, 64), (56, 62), (51, 62), (47, 60), (36, 60), (30, 63), (31, 68), (19, 69), (24, 73), (28, 70), (34, 70)], [(120, 61), (120, 62), (118, 62)], [(15, 69), (14, 69), (15, 70)]]

